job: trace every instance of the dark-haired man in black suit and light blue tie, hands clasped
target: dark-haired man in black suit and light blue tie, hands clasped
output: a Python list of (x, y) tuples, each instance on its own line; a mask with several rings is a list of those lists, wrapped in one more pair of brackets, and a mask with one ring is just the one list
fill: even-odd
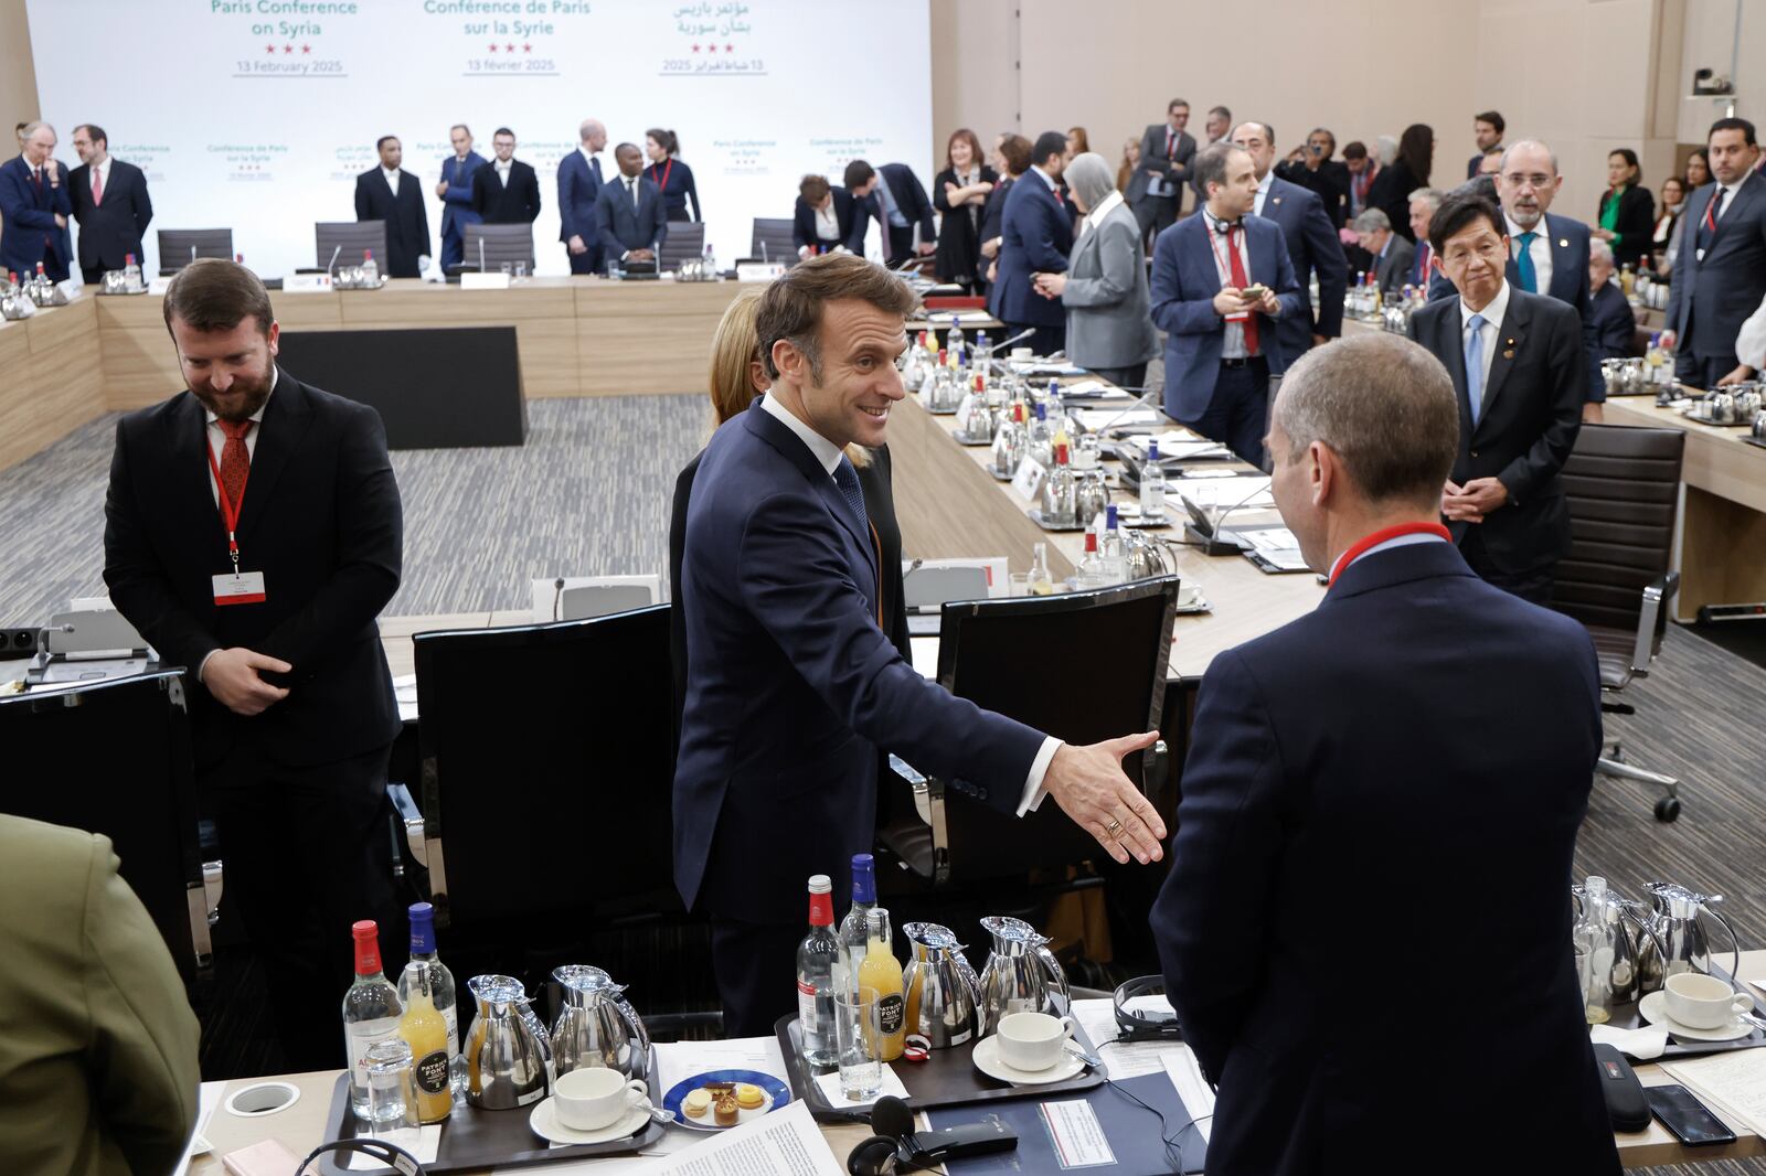
[(1471, 570), (1545, 604), (1558, 560), (1570, 551), (1558, 473), (1582, 426), (1588, 350), (1572, 307), (1505, 277), (1503, 228), (1482, 196), (1441, 201), (1429, 240), (1459, 297), (1416, 311), (1409, 332), (1459, 392), (1459, 459), (1441, 514)]

